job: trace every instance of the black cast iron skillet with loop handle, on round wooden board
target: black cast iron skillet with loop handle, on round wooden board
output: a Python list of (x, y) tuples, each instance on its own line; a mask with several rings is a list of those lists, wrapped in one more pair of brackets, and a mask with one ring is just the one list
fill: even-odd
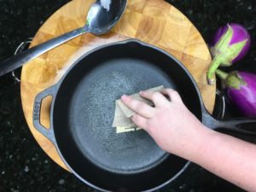
[[(213, 119), (188, 70), (172, 55), (135, 39), (107, 44), (83, 55), (62, 79), (39, 93), (33, 124), (55, 144), (76, 177), (102, 191), (153, 191), (171, 183), (189, 165), (162, 151), (145, 131), (116, 134), (115, 100), (163, 84), (211, 129), (255, 135), (242, 125), (256, 119)], [(50, 128), (40, 124), (41, 102), (53, 96)], [(174, 114), (175, 115), (175, 114)]]

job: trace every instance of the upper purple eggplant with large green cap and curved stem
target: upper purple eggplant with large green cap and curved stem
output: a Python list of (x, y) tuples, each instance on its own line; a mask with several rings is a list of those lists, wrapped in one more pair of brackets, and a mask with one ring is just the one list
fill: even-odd
[(250, 34), (240, 24), (230, 23), (220, 27), (212, 42), (213, 60), (207, 72), (208, 84), (215, 83), (214, 73), (219, 66), (230, 67), (247, 55), (250, 44)]

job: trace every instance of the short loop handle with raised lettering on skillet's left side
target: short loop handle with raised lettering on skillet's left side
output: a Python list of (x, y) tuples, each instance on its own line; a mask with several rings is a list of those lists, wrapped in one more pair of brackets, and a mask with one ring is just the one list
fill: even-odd
[(55, 143), (55, 135), (52, 128), (52, 125), (49, 124), (49, 129), (45, 128), (40, 123), (40, 115), (41, 115), (41, 106), (42, 101), (46, 96), (54, 96), (55, 95), (55, 86), (51, 86), (46, 90), (43, 90), (40, 92), (34, 102), (34, 108), (33, 108), (33, 125), (34, 127), (44, 135), (44, 137), (47, 137), (52, 143)]

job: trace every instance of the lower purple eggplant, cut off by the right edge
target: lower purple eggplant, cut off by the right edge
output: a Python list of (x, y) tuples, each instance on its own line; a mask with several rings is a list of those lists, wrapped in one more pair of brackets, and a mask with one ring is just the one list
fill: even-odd
[(216, 74), (223, 80), (224, 90), (230, 102), (243, 115), (256, 118), (256, 74), (224, 73), (218, 69)]

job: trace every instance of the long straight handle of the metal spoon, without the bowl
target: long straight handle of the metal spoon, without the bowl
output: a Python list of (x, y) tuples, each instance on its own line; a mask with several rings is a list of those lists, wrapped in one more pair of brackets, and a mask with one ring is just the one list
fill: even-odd
[(78, 37), (81, 34), (88, 32), (88, 27), (83, 26), (81, 28), (75, 29), (72, 32), (67, 32), (57, 38), (52, 38), (49, 41), (46, 41), (42, 44), (38, 44), (31, 49), (27, 49), (18, 55), (14, 55), (9, 59), (0, 62), (0, 76), (3, 76), (6, 73), (14, 71), (16, 68), (23, 66), (26, 62), (32, 61), (39, 55), (43, 55), (45, 52), (50, 49), (64, 44), (65, 42)]

